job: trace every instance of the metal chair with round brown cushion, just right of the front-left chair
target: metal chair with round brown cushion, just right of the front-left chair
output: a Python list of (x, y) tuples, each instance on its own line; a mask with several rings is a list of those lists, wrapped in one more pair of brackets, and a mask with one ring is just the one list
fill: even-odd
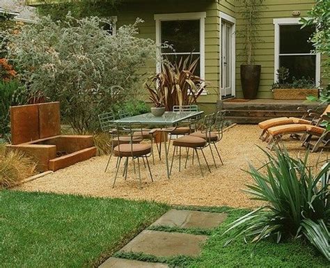
[[(207, 127), (211, 128), (212, 125), (214, 125), (214, 113), (205, 116), (203, 125), (205, 125), (205, 129), (207, 129)], [(198, 150), (201, 150), (203, 158), (204, 158), (206, 166), (207, 166), (207, 169), (211, 173), (210, 166), (207, 163), (207, 159), (206, 159), (204, 151), (203, 151), (203, 149), (206, 148), (209, 145), (210, 145), (210, 143), (207, 141), (207, 139), (203, 139), (203, 137), (199, 137), (199, 136), (193, 136), (191, 134), (182, 136), (178, 139), (175, 139), (173, 141), (174, 148), (173, 148), (173, 157), (172, 157), (172, 161), (171, 161), (170, 173), (172, 172), (175, 149), (177, 149), (177, 148), (179, 148), (179, 172), (181, 171), (181, 155), (182, 155), (181, 154), (181, 148), (186, 148), (187, 149), (187, 156), (186, 156), (186, 161), (185, 161), (185, 164), (184, 164), (184, 168), (187, 168), (187, 161), (188, 161), (188, 158), (189, 158), (189, 150), (191, 148), (193, 150), (193, 164), (194, 164), (194, 155), (196, 153), (196, 157), (197, 157), (197, 160), (198, 160), (199, 168), (201, 169), (202, 177), (204, 176), (204, 174), (203, 174), (203, 168), (201, 166), (201, 160), (200, 160), (200, 157), (198, 155)]]

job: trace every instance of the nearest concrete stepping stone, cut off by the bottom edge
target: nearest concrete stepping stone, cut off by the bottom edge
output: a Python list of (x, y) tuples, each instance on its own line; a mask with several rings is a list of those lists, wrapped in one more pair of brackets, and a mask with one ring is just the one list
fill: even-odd
[(109, 258), (99, 268), (168, 268), (168, 265), (160, 262), (141, 262), (139, 260)]

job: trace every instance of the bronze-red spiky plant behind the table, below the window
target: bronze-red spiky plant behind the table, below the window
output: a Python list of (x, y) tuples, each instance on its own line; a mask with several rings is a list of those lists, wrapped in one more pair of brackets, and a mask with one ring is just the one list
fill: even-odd
[(146, 82), (149, 99), (155, 107), (164, 105), (166, 111), (172, 111), (175, 105), (195, 104), (206, 87), (206, 82), (194, 74), (197, 65), (198, 58), (193, 61), (191, 56), (181, 58), (175, 65), (162, 62), (162, 72)]

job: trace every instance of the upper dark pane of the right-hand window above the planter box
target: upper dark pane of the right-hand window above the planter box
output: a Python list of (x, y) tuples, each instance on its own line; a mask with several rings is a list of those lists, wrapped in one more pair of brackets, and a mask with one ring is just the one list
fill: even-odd
[(308, 40), (315, 27), (300, 28), (299, 24), (280, 26), (280, 54), (311, 53), (313, 45)]

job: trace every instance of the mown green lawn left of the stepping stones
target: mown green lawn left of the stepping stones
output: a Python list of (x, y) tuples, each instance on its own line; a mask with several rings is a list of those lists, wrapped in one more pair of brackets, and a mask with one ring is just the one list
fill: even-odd
[(151, 202), (0, 191), (0, 267), (91, 267), (164, 214)]

